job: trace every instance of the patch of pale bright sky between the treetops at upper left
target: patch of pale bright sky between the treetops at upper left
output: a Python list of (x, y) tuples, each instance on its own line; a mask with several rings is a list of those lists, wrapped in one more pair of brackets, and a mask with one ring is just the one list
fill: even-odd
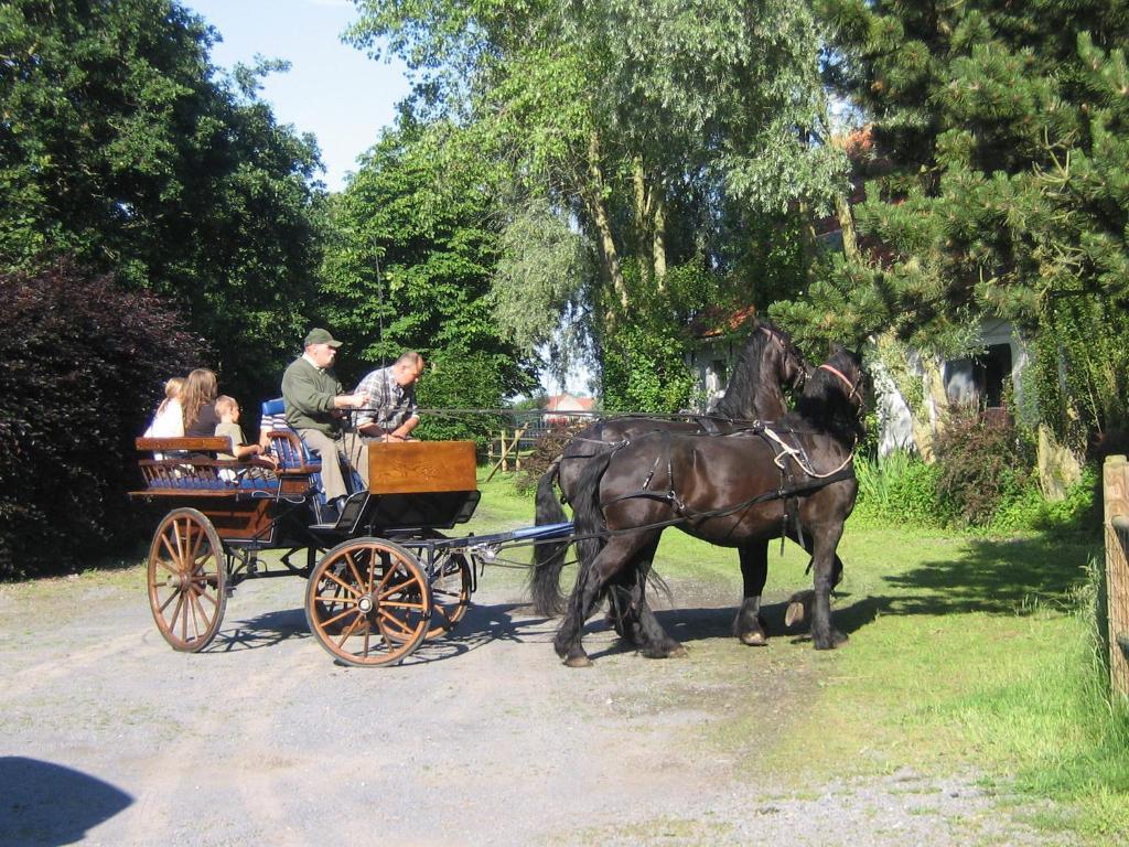
[(230, 69), (259, 53), (286, 59), (287, 73), (272, 73), (260, 96), (275, 117), (317, 137), (331, 191), (344, 186), (357, 157), (376, 143), (409, 93), (401, 62), (375, 61), (341, 42), (357, 15), (348, 0), (182, 0), (219, 30), (212, 63)]

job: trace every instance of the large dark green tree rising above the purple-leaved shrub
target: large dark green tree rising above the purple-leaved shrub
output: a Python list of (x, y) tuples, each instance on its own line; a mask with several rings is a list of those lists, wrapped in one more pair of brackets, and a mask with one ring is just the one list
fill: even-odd
[(313, 291), (313, 140), (174, 0), (0, 6), (0, 265), (60, 253), (172, 297), (225, 388), (277, 392)]

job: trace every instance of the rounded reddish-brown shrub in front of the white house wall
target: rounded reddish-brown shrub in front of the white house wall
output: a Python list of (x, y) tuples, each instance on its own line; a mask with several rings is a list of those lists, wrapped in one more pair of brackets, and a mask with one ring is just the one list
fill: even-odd
[(988, 526), (1004, 504), (1021, 499), (1033, 484), (1031, 449), (1007, 416), (952, 407), (935, 451), (937, 494), (957, 523)]

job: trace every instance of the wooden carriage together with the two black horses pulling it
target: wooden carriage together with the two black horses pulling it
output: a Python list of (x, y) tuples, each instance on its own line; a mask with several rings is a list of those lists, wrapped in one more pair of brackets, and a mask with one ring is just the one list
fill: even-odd
[[(481, 553), (540, 544), (531, 571), (534, 606), (564, 611), (559, 576), (576, 542), (578, 577), (554, 640), (570, 665), (587, 664), (584, 621), (609, 599), (616, 630), (646, 656), (681, 645), (658, 625), (645, 586), (659, 535), (679, 526), (739, 553), (743, 601), (734, 621), (745, 644), (765, 643), (760, 613), (768, 542), (790, 538), (812, 555), (813, 590), (793, 595), (788, 625), (812, 618), (816, 648), (846, 640), (831, 622), (830, 594), (842, 574), (835, 552), (858, 490), (852, 460), (861, 434), (860, 358), (833, 350), (811, 368), (779, 330), (754, 331), (734, 370), (728, 408), (691, 422), (648, 417), (597, 421), (574, 438), (537, 492), (537, 525), (445, 538), (479, 501), (471, 442), (369, 445), (369, 486), (352, 475), (340, 512), (324, 509), (320, 463), (291, 430), (271, 433), (279, 460), (217, 459), (226, 438), (139, 438), (147, 488), (132, 492), (173, 506), (149, 551), (154, 618), (176, 649), (215, 638), (229, 592), (244, 579), (304, 576), (310, 632), (353, 665), (401, 662), (466, 612)], [(803, 393), (785, 414), (782, 385)], [(280, 401), (273, 401), (280, 402)], [(264, 413), (280, 411), (264, 404)], [(769, 421), (768, 424), (764, 421)], [(348, 478), (348, 477), (347, 477)], [(575, 510), (569, 522), (549, 494), (557, 480)], [(333, 519), (327, 518), (329, 515)], [(278, 561), (260, 557), (282, 550)], [(292, 558), (305, 551), (305, 562)]]

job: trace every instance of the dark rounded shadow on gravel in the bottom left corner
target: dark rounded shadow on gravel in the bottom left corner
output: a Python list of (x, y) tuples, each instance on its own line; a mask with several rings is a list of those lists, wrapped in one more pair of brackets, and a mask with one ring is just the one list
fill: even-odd
[(0, 844), (63, 845), (133, 803), (97, 777), (62, 765), (0, 757)]

